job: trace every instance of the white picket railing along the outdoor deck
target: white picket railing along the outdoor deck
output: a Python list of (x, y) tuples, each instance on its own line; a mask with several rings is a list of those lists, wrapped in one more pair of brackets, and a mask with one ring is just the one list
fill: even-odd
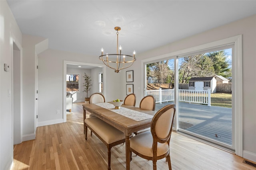
[[(146, 95), (152, 95), (156, 103), (174, 101), (174, 89), (146, 90)], [(208, 90), (184, 90), (179, 89), (179, 101), (207, 104), (211, 106), (211, 89)]]

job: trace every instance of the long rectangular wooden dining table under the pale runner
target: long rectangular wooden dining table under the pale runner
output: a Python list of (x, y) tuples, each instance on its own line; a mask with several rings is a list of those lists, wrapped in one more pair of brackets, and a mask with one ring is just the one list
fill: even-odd
[[(122, 105), (121, 107), (125, 107), (127, 109), (135, 110), (140, 112), (141, 114), (149, 114), (154, 115), (156, 111), (140, 109), (139, 107)], [(120, 115), (106, 109), (104, 107), (98, 106), (96, 104), (84, 104), (84, 119), (86, 119), (86, 111), (93, 113), (98, 118), (102, 119), (106, 123), (112, 125), (116, 129), (124, 132), (125, 134), (125, 145), (126, 145), (126, 170), (130, 170), (130, 136), (133, 132), (146, 129), (150, 127), (152, 118), (136, 121), (134, 119), (130, 119), (126, 116)], [(138, 114), (140, 114), (138, 113)]]

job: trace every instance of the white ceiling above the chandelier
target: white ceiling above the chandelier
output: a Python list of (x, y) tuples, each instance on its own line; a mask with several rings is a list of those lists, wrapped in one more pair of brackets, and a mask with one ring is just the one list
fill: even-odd
[(255, 0), (7, 0), (24, 34), (49, 48), (99, 56), (142, 53), (256, 14)]

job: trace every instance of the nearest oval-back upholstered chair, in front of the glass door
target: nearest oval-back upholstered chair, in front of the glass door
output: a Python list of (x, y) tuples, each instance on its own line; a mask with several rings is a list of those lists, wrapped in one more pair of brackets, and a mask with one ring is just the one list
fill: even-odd
[(169, 170), (172, 169), (169, 144), (175, 111), (174, 104), (164, 106), (154, 115), (151, 132), (144, 132), (130, 139), (130, 160), (134, 152), (144, 159), (152, 160), (153, 170), (156, 170), (156, 161), (166, 158)]

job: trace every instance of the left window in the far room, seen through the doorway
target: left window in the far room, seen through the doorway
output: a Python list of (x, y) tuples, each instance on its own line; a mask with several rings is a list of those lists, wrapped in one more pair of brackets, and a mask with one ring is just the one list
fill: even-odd
[(67, 74), (66, 75), (66, 91), (70, 92), (70, 91), (77, 91), (80, 92), (80, 83), (79, 83), (79, 74)]

